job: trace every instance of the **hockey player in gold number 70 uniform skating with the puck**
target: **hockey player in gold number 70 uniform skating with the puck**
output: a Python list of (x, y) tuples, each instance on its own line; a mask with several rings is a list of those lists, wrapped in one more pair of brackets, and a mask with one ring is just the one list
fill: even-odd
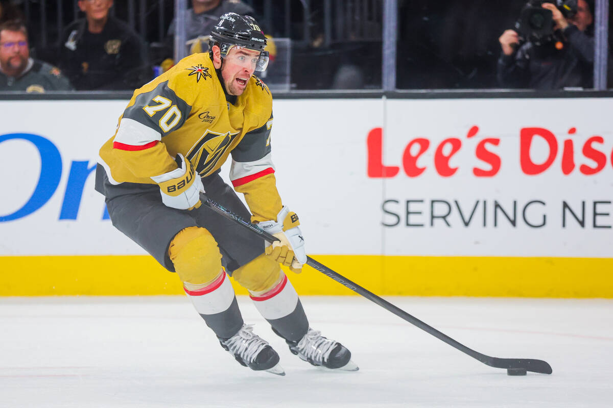
[[(197, 312), (242, 365), (284, 374), (279, 355), (245, 325), (227, 275), (293, 354), (315, 366), (356, 370), (351, 352), (309, 327), (280, 263), (300, 272), (307, 256), (300, 223), (281, 204), (271, 161), (272, 97), (253, 76), (266, 38), (256, 20), (221, 16), (211, 51), (192, 54), (134, 92), (115, 135), (102, 146), (96, 190), (113, 225), (177, 272)], [(232, 155), (230, 180), (219, 176)], [(275, 235), (265, 247), (249, 231), (200, 206), (200, 193)]]

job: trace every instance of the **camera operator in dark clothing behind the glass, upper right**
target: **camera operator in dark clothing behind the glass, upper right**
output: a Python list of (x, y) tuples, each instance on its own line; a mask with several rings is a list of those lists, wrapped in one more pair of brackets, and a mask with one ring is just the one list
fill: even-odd
[(519, 46), (519, 34), (506, 30), (500, 36), (498, 82), (504, 87), (563, 89), (593, 87), (593, 16), (585, 0), (577, 2), (577, 13), (566, 19), (551, 3), (556, 39), (542, 45), (530, 40)]

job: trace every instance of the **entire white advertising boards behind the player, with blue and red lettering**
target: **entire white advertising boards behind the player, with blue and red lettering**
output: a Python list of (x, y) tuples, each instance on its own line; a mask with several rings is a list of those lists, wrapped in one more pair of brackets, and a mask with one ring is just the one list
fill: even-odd
[[(143, 253), (93, 188), (125, 105), (0, 102), (0, 255)], [(313, 254), (610, 258), (612, 107), (275, 100), (275, 175)]]

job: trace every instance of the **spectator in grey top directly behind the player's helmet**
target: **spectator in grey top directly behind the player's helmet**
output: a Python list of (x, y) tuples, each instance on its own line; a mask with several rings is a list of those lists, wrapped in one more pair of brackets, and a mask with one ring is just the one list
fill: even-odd
[[(191, 0), (191, 2), (192, 8), (188, 9), (185, 15), (185, 38), (188, 54), (208, 51), (208, 34), (217, 24), (221, 15), (232, 12), (249, 15), (257, 19), (251, 6), (240, 0)], [(164, 72), (174, 65), (170, 56), (173, 55), (176, 24), (177, 19), (175, 18), (170, 23), (168, 34), (164, 40), (164, 56), (167, 57), (161, 64)], [(268, 38), (270, 39), (270, 37)]]

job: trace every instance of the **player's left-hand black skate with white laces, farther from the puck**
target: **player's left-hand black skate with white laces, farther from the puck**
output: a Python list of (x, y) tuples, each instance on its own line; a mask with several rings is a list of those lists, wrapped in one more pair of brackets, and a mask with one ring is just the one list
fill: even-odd
[(219, 343), (243, 366), (255, 371), (285, 375), (279, 365), (279, 355), (260, 336), (253, 334), (253, 324), (243, 324), (238, 333), (229, 339), (220, 338)]

